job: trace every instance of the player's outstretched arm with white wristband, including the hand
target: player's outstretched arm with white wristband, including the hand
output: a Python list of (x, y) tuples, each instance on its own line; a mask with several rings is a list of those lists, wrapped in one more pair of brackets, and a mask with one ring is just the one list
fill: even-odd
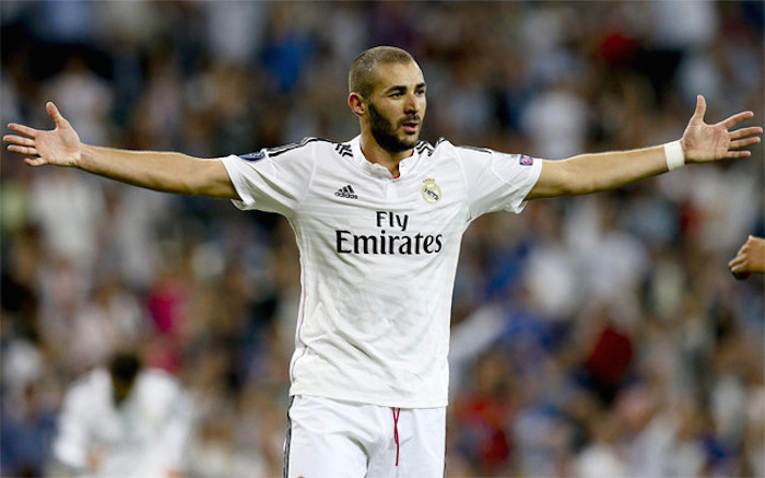
[[(705, 163), (751, 155), (742, 148), (760, 142), (761, 127), (731, 130), (752, 118), (752, 112), (730, 116), (716, 125), (704, 123), (706, 101), (698, 95), (696, 110), (679, 142), (632, 151), (581, 154), (545, 161), (537, 185), (526, 199), (577, 196), (617, 188), (656, 176), (685, 163)], [(674, 150), (673, 150), (674, 148)], [(668, 158), (668, 154), (669, 158)]]

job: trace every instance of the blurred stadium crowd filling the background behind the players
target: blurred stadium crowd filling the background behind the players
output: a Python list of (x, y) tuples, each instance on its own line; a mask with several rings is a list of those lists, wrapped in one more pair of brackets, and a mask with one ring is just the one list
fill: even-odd
[[(0, 3), (1, 120), (192, 155), (357, 131), (346, 72), (390, 44), (423, 139), (560, 159), (763, 118), (762, 2)], [(491, 214), (454, 302), (448, 476), (765, 476), (763, 148)], [(188, 475), (280, 476), (299, 296), (286, 221), (3, 152), (2, 476), (49, 459), (66, 387), (116, 348), (197, 403)], [(363, 278), (360, 278), (363, 280)], [(339, 293), (341, 293), (339, 291)]]

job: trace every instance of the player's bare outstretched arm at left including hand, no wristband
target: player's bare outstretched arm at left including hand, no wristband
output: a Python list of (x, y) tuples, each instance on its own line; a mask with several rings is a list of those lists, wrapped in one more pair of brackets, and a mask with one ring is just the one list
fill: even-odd
[(186, 154), (128, 151), (93, 147), (80, 137), (56, 105), (46, 104), (56, 128), (49, 131), (10, 124), (19, 135), (8, 135), (8, 150), (26, 155), (31, 166), (52, 164), (79, 167), (122, 183), (165, 193), (238, 199), (223, 163)]

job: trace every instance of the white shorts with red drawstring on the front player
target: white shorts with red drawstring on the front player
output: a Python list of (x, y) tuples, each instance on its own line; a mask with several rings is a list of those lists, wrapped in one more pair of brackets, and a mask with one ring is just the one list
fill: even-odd
[(446, 407), (391, 408), (297, 395), (287, 411), (285, 478), (442, 478)]

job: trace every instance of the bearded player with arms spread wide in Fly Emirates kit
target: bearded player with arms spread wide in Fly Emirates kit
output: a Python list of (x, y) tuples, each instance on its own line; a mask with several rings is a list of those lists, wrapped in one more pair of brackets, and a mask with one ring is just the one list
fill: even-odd
[[(301, 252), (303, 295), (290, 363), (287, 477), (444, 474), (447, 352), (460, 241), (481, 214), (538, 198), (584, 195), (685, 163), (749, 156), (753, 116), (704, 123), (680, 140), (634, 151), (544, 161), (420, 141), (426, 83), (404, 50), (362, 53), (349, 75), (361, 133), (308, 138), (202, 160), (82, 144), (52, 103), (56, 129), (10, 125), (10, 151), (32, 166), (73, 166), (133, 185), (233, 199), (283, 214)], [(554, 131), (551, 131), (554, 141)]]

